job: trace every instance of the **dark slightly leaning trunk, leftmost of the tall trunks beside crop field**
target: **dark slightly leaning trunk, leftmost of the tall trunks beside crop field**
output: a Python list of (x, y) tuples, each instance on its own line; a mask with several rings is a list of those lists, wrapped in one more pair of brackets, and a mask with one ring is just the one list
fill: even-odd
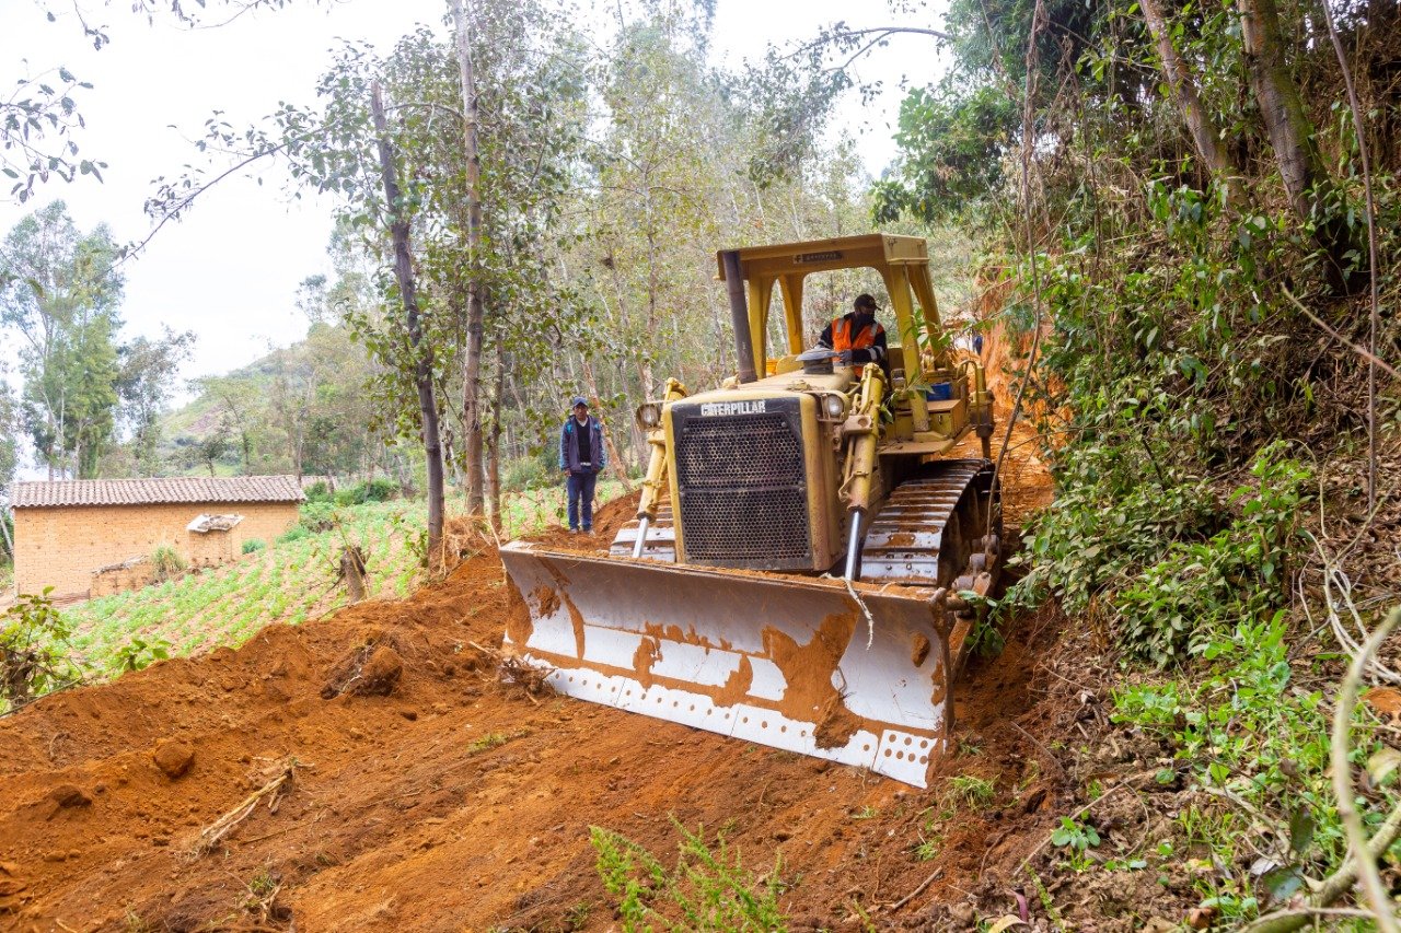
[(423, 426), (423, 452), (427, 457), (429, 479), (429, 566), (441, 558), (443, 549), (443, 450), (439, 440), (437, 402), (433, 398), (433, 347), (423, 343), (419, 321), (419, 300), (413, 286), (413, 265), (409, 261), (409, 221), (399, 212), (399, 181), (394, 170), (394, 150), (389, 144), (388, 123), (384, 119), (384, 99), (380, 83), (370, 91), (370, 112), (380, 146), (380, 172), (384, 177), (384, 200), (389, 206), (389, 237), (394, 240), (394, 276), (399, 282), (403, 314), (408, 319), (409, 345), (413, 347), (413, 382), (419, 389), (419, 415)]

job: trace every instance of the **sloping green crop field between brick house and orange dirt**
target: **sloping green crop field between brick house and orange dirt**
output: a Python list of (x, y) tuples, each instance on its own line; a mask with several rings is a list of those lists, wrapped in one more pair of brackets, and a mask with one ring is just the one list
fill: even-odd
[[(598, 500), (618, 495), (614, 481), (598, 485)], [(513, 493), (503, 503), (503, 539), (541, 531), (563, 514), (563, 492)], [(450, 516), (462, 502), (448, 502)], [(305, 509), (304, 509), (305, 511)], [(416, 500), (366, 503), (335, 509), (329, 531), (287, 535), (240, 560), (213, 570), (132, 593), (101, 597), (63, 609), (73, 628), (71, 660), (88, 678), (115, 674), (123, 660), (142, 657), (142, 646), (158, 646), (171, 657), (237, 647), (273, 622), (300, 625), (342, 608), (338, 581), (340, 549), (366, 553), (370, 598), (409, 595), (422, 574), (415, 544), (422, 539), (426, 506)], [(137, 650), (133, 654), (133, 647)]]

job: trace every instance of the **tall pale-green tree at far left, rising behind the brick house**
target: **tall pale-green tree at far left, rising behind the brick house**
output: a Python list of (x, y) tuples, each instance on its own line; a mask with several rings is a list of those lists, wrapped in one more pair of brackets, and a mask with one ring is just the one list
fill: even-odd
[(21, 220), (4, 242), (0, 325), (21, 339), (24, 422), (55, 472), (90, 478), (113, 440), (122, 279), (105, 227), (77, 230), (63, 202)]

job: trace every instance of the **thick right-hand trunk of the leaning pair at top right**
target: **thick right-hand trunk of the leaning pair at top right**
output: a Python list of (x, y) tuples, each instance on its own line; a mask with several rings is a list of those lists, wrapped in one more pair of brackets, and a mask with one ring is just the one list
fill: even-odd
[(1335, 294), (1346, 293), (1346, 254), (1355, 244), (1341, 212), (1330, 207), (1330, 202), (1335, 200), (1332, 177), (1314, 143), (1313, 123), (1285, 62), (1275, 0), (1238, 3), (1250, 85), (1269, 132), (1289, 203), (1302, 223), (1314, 224), (1314, 242), (1330, 259), (1324, 263), (1330, 287)]

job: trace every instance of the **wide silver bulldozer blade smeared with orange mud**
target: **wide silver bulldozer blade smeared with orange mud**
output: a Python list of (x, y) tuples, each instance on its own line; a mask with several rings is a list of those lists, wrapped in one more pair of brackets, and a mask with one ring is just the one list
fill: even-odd
[(506, 642), (560, 693), (916, 787), (944, 751), (950, 639), (930, 588), (855, 584), (857, 601), (841, 580), (500, 553), (518, 597)]

